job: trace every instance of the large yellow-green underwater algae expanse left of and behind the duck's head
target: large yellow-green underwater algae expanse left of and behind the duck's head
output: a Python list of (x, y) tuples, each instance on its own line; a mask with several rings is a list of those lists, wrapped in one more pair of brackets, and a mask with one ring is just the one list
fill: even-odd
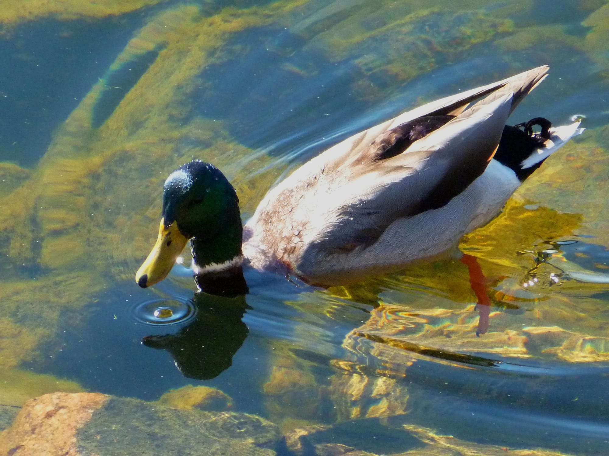
[[(111, 280), (132, 280), (134, 258), (146, 255), (155, 236), (168, 170), (192, 157), (213, 161), (236, 182), (244, 213), (253, 212), (279, 170), (247, 178), (245, 170), (270, 159), (234, 142), (220, 122), (192, 116), (188, 97), (231, 35), (302, 3), (208, 17), (178, 5), (152, 16), (58, 129), (37, 168), (2, 165), (10, 176), (0, 194), (1, 268), (8, 274), (0, 291), (7, 302), (3, 365), (35, 359), (37, 347), (54, 337), (62, 309), (93, 302)], [(108, 81), (150, 50), (157, 57), (100, 122), (96, 109), (106, 102)]]

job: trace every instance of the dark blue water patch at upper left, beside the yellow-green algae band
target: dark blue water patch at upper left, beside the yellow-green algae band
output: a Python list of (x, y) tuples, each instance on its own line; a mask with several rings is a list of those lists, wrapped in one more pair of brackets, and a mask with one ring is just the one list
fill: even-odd
[(0, 161), (32, 167), (53, 131), (155, 11), (26, 22), (0, 40)]

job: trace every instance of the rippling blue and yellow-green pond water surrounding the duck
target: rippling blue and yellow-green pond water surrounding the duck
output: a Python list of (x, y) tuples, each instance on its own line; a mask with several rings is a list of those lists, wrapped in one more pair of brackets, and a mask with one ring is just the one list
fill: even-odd
[[(441, 435), (481, 454), (609, 452), (605, 2), (170, 1), (102, 17), (79, 0), (27, 17), (7, 4), (7, 378), (149, 401), (207, 385), (286, 431), (332, 424), (314, 443), (378, 454), (439, 451)], [(247, 270), (234, 300), (195, 294), (181, 265), (150, 289), (133, 282), (161, 185), (192, 157), (227, 174), (247, 219), (338, 140), (546, 63), (513, 123), (579, 114), (587, 130), (463, 240), (490, 282), (480, 337), (485, 309), (459, 261), (330, 289)]]

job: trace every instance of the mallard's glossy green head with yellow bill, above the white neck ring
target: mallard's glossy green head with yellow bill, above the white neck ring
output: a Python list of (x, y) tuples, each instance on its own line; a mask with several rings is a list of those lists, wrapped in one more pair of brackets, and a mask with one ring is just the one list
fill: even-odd
[(201, 161), (182, 165), (165, 181), (157, 243), (135, 275), (138, 285), (163, 280), (189, 239), (199, 270), (241, 256), (237, 194), (218, 168)]

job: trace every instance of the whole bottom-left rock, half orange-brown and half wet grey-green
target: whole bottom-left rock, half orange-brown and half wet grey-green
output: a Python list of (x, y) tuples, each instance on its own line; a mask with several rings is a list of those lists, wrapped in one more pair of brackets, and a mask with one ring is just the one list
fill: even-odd
[(100, 393), (54, 393), (24, 405), (0, 434), (0, 454), (248, 455), (285, 447), (274, 424), (254, 415), (158, 406)]

